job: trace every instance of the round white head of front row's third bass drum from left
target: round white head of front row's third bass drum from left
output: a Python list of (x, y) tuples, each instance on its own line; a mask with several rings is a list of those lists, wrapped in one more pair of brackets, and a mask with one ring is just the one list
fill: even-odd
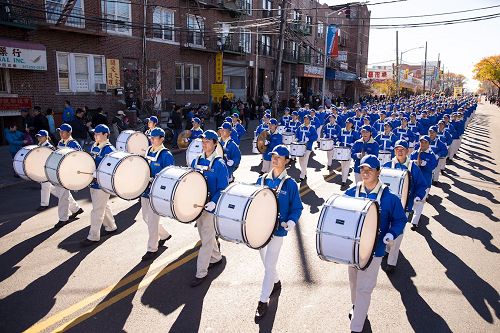
[(148, 162), (141, 156), (123, 158), (113, 176), (116, 194), (125, 200), (138, 198), (148, 187), (150, 170)]

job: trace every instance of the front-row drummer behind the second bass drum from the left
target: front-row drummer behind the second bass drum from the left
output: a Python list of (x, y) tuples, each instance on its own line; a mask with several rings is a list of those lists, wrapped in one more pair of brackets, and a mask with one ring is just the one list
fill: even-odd
[[(73, 128), (69, 124), (62, 124), (56, 129), (61, 136), (61, 140), (57, 144), (57, 148), (73, 148), (75, 150), (82, 150), (80, 144), (71, 137), (71, 132)], [(57, 197), (59, 202), (57, 204), (57, 212), (59, 215), (59, 222), (56, 223), (54, 228), (59, 229), (69, 223), (69, 220), (73, 220), (78, 215), (83, 213), (83, 209), (80, 208), (78, 203), (73, 199), (71, 192), (65, 188), (56, 186)], [(71, 216), (68, 216), (68, 212), (71, 212)]]

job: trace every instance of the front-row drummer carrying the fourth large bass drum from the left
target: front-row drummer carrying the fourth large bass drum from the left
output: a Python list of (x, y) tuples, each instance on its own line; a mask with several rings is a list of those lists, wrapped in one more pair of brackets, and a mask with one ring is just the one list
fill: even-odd
[(215, 239), (214, 212), (221, 191), (228, 185), (226, 164), (215, 151), (218, 141), (217, 133), (207, 130), (201, 137), (203, 153), (193, 160), (191, 167), (202, 172), (207, 180), (209, 201), (196, 222), (201, 247), (196, 262), (196, 276), (191, 281), (192, 287), (200, 285), (205, 280), (210, 267), (222, 262), (222, 255)]

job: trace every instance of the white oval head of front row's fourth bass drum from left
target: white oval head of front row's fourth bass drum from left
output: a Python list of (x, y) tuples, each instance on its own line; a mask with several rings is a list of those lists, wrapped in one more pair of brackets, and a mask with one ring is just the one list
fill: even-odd
[(174, 214), (179, 222), (196, 220), (203, 211), (208, 196), (205, 177), (199, 172), (189, 172), (177, 184), (174, 194)]

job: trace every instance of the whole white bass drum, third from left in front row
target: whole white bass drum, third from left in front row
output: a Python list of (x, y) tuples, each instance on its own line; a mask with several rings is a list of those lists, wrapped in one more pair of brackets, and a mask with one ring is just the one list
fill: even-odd
[(105, 192), (125, 200), (133, 200), (147, 189), (151, 171), (144, 157), (114, 151), (101, 160), (96, 178)]

